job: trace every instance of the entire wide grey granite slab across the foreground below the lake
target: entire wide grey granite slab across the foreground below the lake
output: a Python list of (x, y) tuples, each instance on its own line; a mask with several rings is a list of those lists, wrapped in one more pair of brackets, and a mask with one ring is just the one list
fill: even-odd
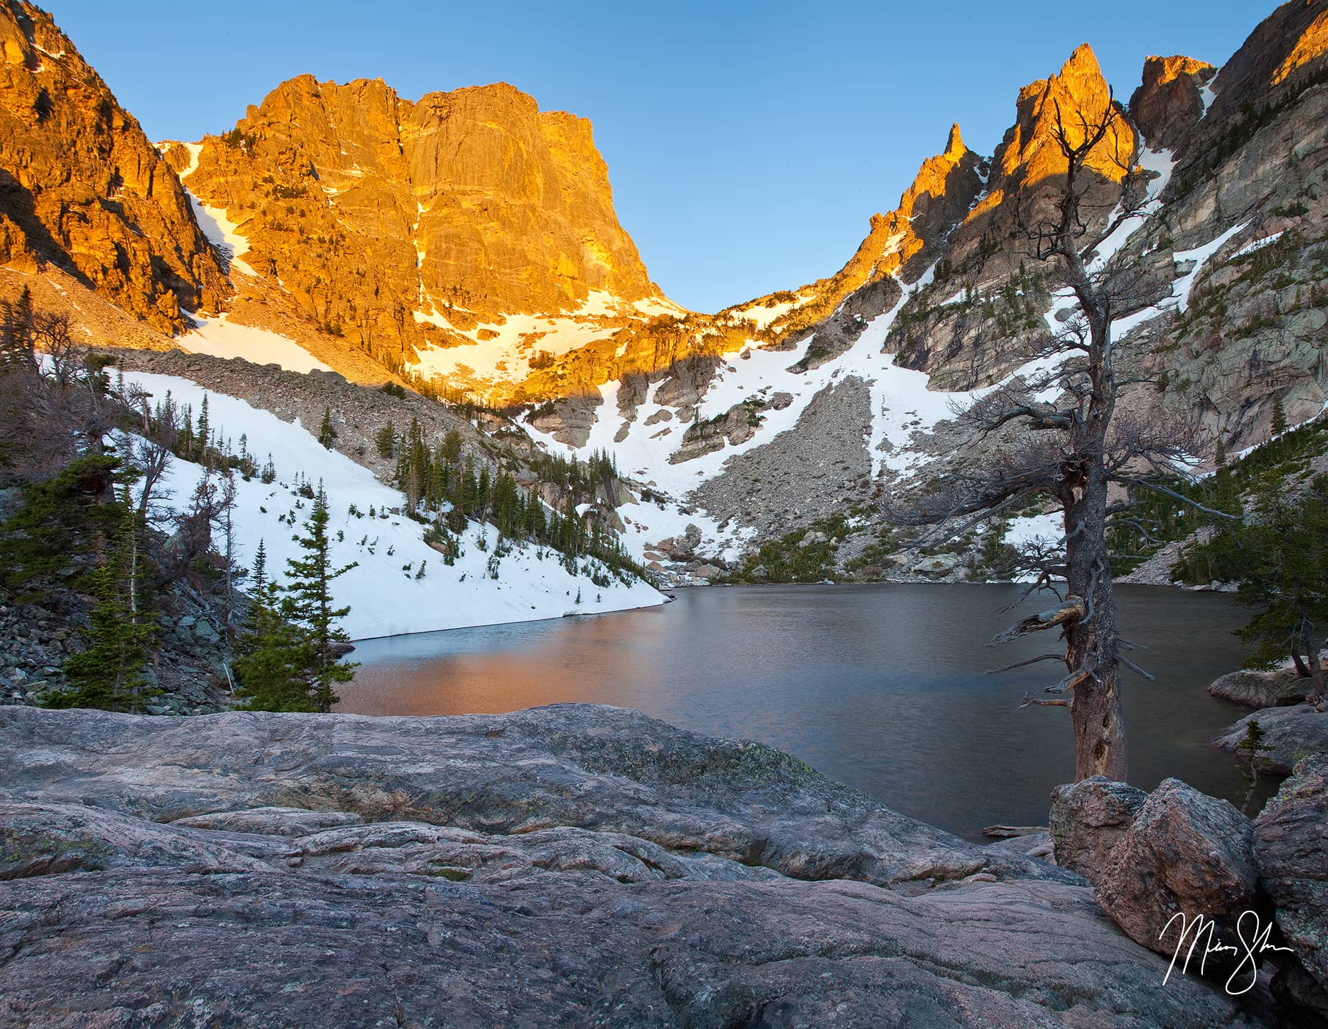
[(623, 709), (9, 709), (0, 783), (0, 1025), (1256, 1024), (1070, 872)]

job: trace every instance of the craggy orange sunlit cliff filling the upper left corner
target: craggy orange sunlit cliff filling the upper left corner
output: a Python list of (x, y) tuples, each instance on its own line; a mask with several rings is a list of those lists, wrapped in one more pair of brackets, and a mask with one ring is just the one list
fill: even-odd
[(53, 264), (167, 335), (228, 292), (175, 173), (25, 0), (0, 4), (0, 264)]

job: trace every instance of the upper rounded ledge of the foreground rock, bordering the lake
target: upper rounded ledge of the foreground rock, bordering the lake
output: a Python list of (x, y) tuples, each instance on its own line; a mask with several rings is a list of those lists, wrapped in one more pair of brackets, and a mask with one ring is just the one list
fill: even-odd
[[(113, 752), (102, 753), (110, 741)], [(208, 754), (205, 767), (190, 757), (198, 753)], [(187, 722), (15, 708), (0, 710), (0, 775), (19, 799), (155, 821), (299, 806), (487, 834), (570, 826), (786, 875), (879, 883), (1016, 867), (777, 752), (587, 705), (462, 718), (227, 713)]]

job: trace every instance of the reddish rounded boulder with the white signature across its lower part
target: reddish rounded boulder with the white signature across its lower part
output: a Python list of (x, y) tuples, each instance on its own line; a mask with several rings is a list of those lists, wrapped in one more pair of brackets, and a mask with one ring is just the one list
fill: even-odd
[[(1266, 908), (1254, 827), (1226, 801), (1163, 779), (1112, 848), (1096, 895), (1131, 940), (1167, 957), (1178, 949), (1183, 956), (1208, 920), (1214, 941), (1235, 947), (1240, 915)], [(1190, 972), (1201, 972), (1203, 951), (1201, 940)], [(1202, 971), (1224, 977), (1239, 960), (1228, 952), (1210, 953)]]

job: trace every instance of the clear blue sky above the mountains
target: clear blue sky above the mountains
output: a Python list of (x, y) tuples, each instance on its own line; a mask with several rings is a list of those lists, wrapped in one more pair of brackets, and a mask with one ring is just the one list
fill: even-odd
[(44, 0), (154, 139), (223, 131), (278, 82), (405, 97), (507, 81), (595, 125), (652, 277), (714, 311), (835, 272), (951, 122), (989, 154), (1021, 85), (1090, 42), (1222, 64), (1274, 0)]

